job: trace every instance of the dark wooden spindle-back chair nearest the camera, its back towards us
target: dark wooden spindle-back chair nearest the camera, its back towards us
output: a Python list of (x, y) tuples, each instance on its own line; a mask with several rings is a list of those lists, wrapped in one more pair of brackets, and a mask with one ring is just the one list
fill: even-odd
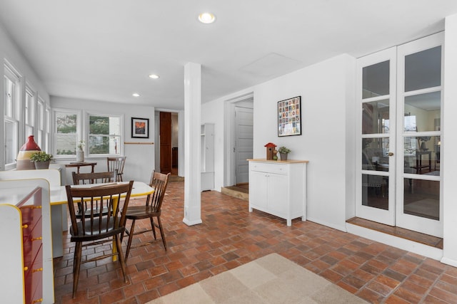
[[(73, 187), (66, 185), (66, 196), (68, 199), (69, 214), (71, 219), (70, 241), (75, 242), (74, 264), (73, 264), (73, 298), (76, 296), (79, 281), (79, 268), (81, 263), (97, 261), (108, 256), (117, 256), (121, 264), (124, 282), (127, 283), (126, 266), (124, 253), (122, 252), (121, 236), (124, 235), (126, 224), (126, 211), (129, 206), (131, 189), (134, 182), (122, 184), (108, 184), (94, 187)], [(121, 200), (121, 197), (124, 199)], [(84, 201), (86, 204), (79, 204)], [(113, 210), (113, 212), (96, 212), (94, 204), (101, 204), (102, 209)], [(123, 206), (121, 205), (121, 202)], [(76, 205), (83, 207), (82, 216), (76, 218)], [(86, 212), (89, 211), (89, 214)], [(113, 241), (112, 253), (100, 250), (105, 253), (101, 256), (88, 258), (81, 261), (82, 246), (96, 246), (106, 241)], [(114, 250), (115, 249), (115, 250)], [(98, 254), (97, 254), (98, 255)], [(88, 256), (89, 257), (89, 256)], [(116, 272), (114, 272), (116, 273)]]

